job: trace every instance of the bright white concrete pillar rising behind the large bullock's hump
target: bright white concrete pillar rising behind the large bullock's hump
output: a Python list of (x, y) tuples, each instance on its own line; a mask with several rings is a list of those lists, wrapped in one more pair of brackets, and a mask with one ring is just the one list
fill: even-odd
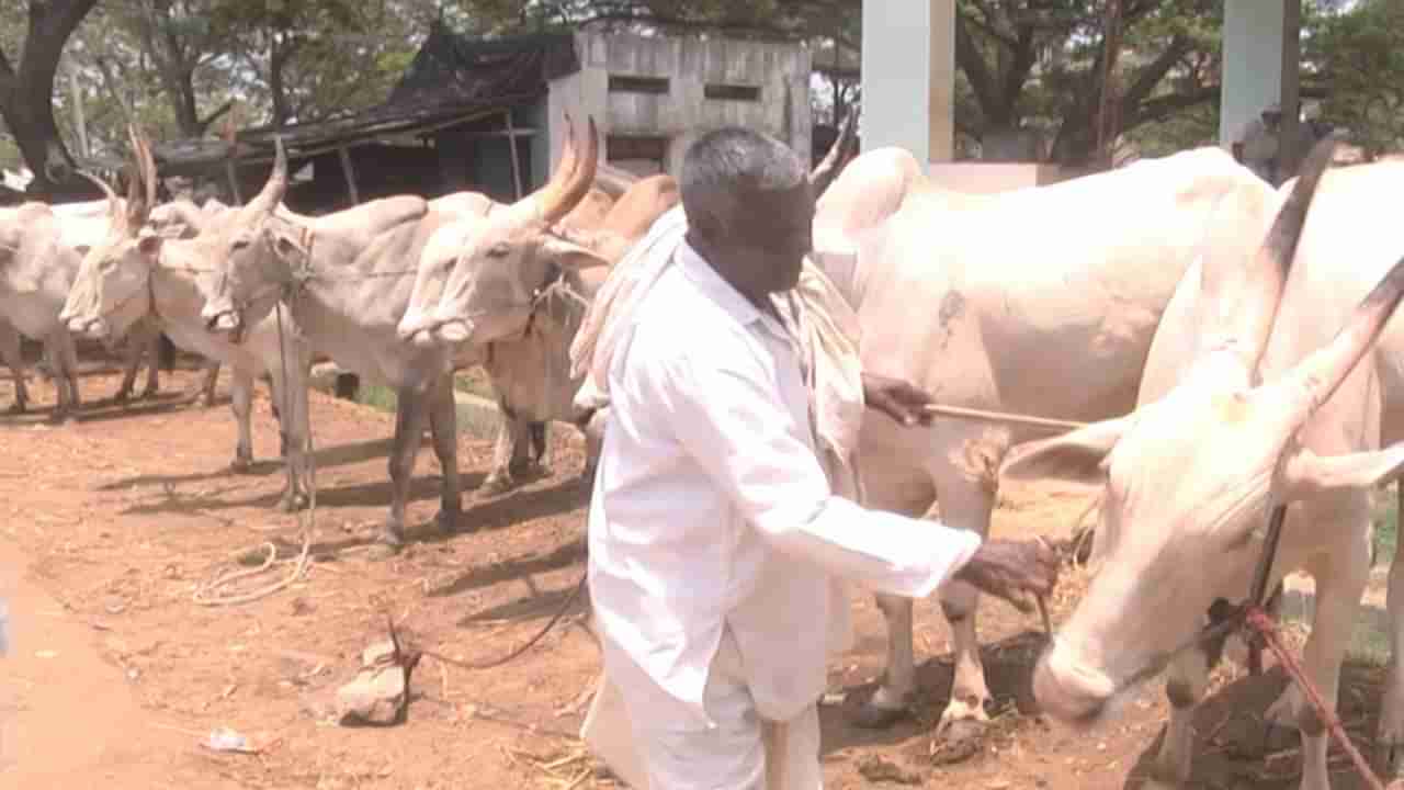
[(918, 162), (955, 155), (955, 0), (863, 3), (863, 150), (899, 146)]

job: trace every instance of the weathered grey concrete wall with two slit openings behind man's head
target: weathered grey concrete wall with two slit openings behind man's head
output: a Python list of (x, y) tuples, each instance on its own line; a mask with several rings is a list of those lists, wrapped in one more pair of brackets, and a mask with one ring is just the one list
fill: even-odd
[(594, 115), (607, 160), (635, 171), (677, 176), (688, 145), (724, 125), (775, 135), (810, 157), (810, 53), (797, 44), (580, 32), (576, 46), (581, 70), (552, 82), (546, 100), (552, 167), (564, 110), (581, 131)]

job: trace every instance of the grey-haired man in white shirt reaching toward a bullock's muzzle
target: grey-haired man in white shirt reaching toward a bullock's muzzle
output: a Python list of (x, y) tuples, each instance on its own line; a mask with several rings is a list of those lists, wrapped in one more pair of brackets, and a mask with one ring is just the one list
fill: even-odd
[[(821, 787), (816, 703), (847, 648), (841, 578), (922, 597), (959, 576), (1011, 600), (1056, 582), (1042, 544), (981, 544), (834, 496), (772, 298), (810, 252), (806, 176), (765, 135), (698, 139), (680, 183), (685, 243), (608, 357), (590, 596), (651, 790)], [(875, 377), (863, 391), (908, 425), (925, 402)]]

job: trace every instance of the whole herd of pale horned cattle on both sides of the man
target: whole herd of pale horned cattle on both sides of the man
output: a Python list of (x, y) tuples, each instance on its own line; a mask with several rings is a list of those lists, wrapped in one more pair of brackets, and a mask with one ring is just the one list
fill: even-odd
[[(44, 342), (58, 409), (79, 405), (72, 335), (131, 340), (119, 398), (159, 332), (232, 373), (234, 468), (253, 461), (256, 378), (281, 422), (282, 507), (306, 505), (307, 380), (330, 358), (397, 395), (382, 544), (404, 540), (404, 505), (425, 427), (442, 464), (444, 530), (463, 524), (453, 371), (482, 365), (504, 416), (490, 491), (541, 461), (542, 426), (570, 422), (598, 451), (600, 415), (573, 405), (569, 346), (629, 246), (678, 202), (668, 176), (628, 179), (598, 162), (600, 136), (570, 128), (560, 164), (511, 204), (479, 193), (397, 195), (306, 216), (284, 204), (277, 146), (243, 207), (156, 205), (156, 170), (133, 129), (125, 198), (0, 209), (0, 351), (27, 408), (18, 333)], [(1091, 725), (1136, 680), (1164, 671), (1171, 723), (1153, 769), (1178, 786), (1210, 652), (1171, 651), (1210, 606), (1243, 597), (1262, 526), (1287, 506), (1271, 583), (1306, 571), (1317, 604), (1304, 665), (1337, 699), (1370, 564), (1369, 491), (1404, 467), (1404, 163), (1331, 170), (1332, 142), (1273, 188), (1214, 148), (994, 195), (929, 183), (900, 149), (816, 170), (816, 264), (858, 312), (866, 370), (913, 381), (943, 405), (1066, 420), (938, 419), (904, 429), (872, 413), (861, 436), (863, 496), (988, 531), (1001, 479), (1066, 479), (1101, 498), (1099, 571), (1033, 671), (1046, 713)], [(831, 181), (831, 183), (830, 183)], [(827, 187), (827, 188), (826, 188)], [(152, 360), (147, 391), (156, 388)], [(427, 426), (425, 426), (427, 420)], [(588, 474), (590, 464), (587, 464)], [(1397, 562), (1397, 558), (1396, 558)], [(1400, 588), (1400, 589), (1397, 589)], [(1404, 654), (1404, 575), (1390, 576), (1391, 648)], [(941, 732), (987, 723), (990, 690), (973, 588), (948, 585), (955, 680)], [(859, 723), (899, 718), (915, 690), (913, 607), (879, 597), (886, 672)], [(1404, 675), (1391, 658), (1376, 734), (1404, 763)], [(1327, 734), (1290, 686), (1269, 710), (1303, 739), (1302, 787), (1330, 786)]]

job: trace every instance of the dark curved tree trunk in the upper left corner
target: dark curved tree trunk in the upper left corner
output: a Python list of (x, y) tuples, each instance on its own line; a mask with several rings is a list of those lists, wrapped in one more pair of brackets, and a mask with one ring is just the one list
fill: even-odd
[[(53, 115), (53, 82), (63, 45), (95, 4), (29, 0), (24, 39), (6, 41), (0, 49), (0, 117), (34, 170), (31, 193), (53, 194), (73, 184), (73, 156)], [(11, 62), (14, 52), (18, 60)]]

